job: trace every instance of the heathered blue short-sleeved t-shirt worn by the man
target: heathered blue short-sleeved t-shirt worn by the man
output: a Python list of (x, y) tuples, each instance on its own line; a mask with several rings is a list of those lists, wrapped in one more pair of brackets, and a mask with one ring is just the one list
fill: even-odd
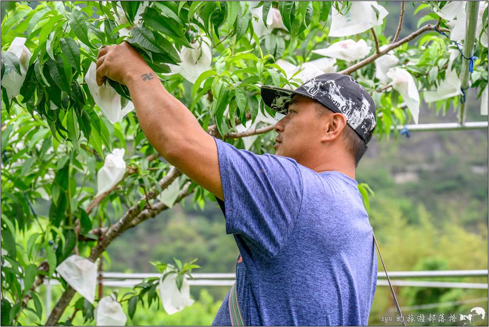
[[(377, 256), (357, 182), (216, 144), (244, 324), (367, 325)], [(231, 326), (228, 302), (229, 293), (213, 326)]]

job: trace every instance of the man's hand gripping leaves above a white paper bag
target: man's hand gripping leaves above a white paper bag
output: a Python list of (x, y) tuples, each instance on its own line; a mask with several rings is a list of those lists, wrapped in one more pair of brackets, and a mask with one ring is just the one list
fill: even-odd
[(151, 68), (143, 56), (128, 42), (115, 46), (104, 46), (98, 50), (97, 84), (101, 86), (106, 77), (126, 85), (130, 76), (143, 74)]

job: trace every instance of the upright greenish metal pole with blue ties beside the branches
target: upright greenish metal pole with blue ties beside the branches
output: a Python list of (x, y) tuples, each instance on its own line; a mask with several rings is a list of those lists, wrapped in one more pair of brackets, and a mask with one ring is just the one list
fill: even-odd
[[(462, 59), (462, 71), (460, 76), (462, 79), (462, 90), (467, 90), (468, 83), (470, 80), (470, 72), (468, 71), (469, 60), (466, 58), (471, 58), (474, 52), (474, 42), (475, 42), (475, 27), (477, 26), (477, 18), (479, 13), (479, 1), (467, 1), (467, 21), (465, 25), (465, 41), (464, 41), (464, 57)], [(467, 103), (464, 101), (460, 106), (459, 122), (465, 124), (465, 105)]]

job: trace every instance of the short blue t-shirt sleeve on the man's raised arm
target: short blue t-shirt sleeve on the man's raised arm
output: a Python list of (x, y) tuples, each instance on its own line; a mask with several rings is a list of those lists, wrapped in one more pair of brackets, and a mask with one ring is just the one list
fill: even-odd
[(278, 254), (299, 214), (303, 181), (290, 158), (256, 155), (215, 139), (226, 233), (255, 263)]

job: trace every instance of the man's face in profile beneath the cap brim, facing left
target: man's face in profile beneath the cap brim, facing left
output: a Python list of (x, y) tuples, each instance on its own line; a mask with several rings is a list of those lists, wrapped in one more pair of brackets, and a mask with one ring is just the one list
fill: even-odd
[(317, 117), (316, 108), (317, 103), (310, 98), (301, 95), (292, 97), (287, 115), (274, 126), (278, 133), (273, 145), (275, 155), (301, 163), (302, 159), (318, 150), (324, 127), (321, 127), (323, 117)]

